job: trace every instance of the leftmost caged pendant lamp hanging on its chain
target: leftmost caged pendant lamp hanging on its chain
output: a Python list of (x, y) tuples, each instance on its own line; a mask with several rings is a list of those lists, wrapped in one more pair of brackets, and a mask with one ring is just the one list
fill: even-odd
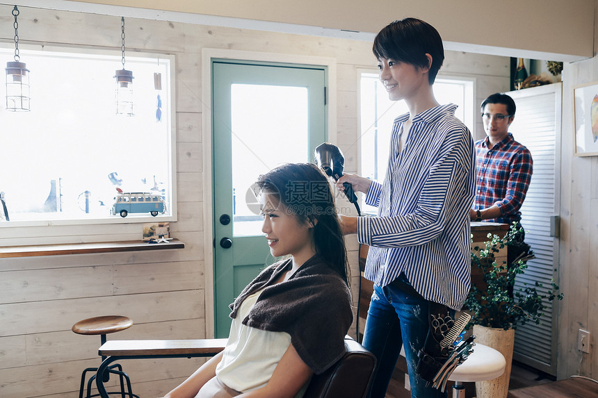
[(29, 69), (25, 63), (20, 62), (19, 56), (19, 23), (17, 17), (19, 9), (13, 9), (15, 17), (15, 60), (6, 63), (6, 110), (13, 112), (31, 110), (29, 97)]

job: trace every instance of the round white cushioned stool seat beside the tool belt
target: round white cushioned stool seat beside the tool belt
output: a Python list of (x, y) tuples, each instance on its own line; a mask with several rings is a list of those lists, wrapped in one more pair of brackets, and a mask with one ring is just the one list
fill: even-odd
[(505, 357), (496, 349), (474, 345), (474, 352), (448, 376), (451, 381), (485, 381), (496, 379), (505, 372)]

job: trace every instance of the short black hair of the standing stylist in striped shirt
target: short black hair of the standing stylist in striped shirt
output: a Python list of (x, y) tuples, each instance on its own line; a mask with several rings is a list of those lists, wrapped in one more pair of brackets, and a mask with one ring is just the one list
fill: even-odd
[(426, 53), (432, 56), (428, 82), (434, 84), (444, 62), (442, 38), (434, 26), (417, 18), (391, 22), (376, 35), (373, 53), (377, 59), (391, 59), (416, 67), (428, 67)]

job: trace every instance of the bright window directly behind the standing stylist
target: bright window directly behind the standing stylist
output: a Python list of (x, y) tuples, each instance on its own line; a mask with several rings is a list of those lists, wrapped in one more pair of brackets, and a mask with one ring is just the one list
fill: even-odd
[[(377, 72), (361, 72), (359, 90), (360, 175), (381, 183), (386, 174), (392, 123), (397, 116), (409, 110), (405, 101), (388, 99)], [(455, 116), (473, 133), (473, 78), (437, 76), (434, 95), (439, 103), (455, 103), (458, 106)], [(376, 213), (376, 209), (363, 204), (362, 212)]]

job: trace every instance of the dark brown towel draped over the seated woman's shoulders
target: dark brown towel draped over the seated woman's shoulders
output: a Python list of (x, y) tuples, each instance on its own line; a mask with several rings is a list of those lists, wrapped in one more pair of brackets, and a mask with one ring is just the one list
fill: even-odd
[(291, 268), (291, 261), (262, 271), (230, 305), (230, 317), (236, 317), (246, 297), (265, 287), (243, 324), (289, 333), (301, 359), (315, 374), (321, 374), (345, 353), (344, 337), (353, 322), (350, 290), (317, 255), (288, 281), (273, 284)]

